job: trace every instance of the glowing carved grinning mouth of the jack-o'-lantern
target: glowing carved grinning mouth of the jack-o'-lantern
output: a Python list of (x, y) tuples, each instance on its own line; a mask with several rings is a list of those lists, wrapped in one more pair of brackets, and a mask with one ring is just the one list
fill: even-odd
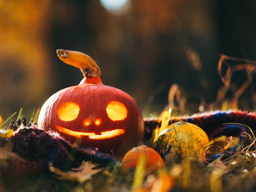
[(56, 129), (59, 132), (81, 138), (82, 136), (88, 136), (90, 139), (106, 139), (106, 138), (112, 138), (115, 136), (119, 136), (121, 134), (124, 134), (125, 131), (124, 129), (113, 129), (111, 131), (106, 131), (106, 132), (101, 132), (101, 135), (97, 135), (95, 133), (85, 133), (85, 132), (76, 132), (76, 131), (71, 131), (70, 129), (66, 129), (64, 127), (55, 125)]

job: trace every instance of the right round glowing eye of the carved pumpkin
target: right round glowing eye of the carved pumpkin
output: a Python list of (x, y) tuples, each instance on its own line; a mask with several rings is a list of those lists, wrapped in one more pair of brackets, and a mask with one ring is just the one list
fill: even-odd
[(108, 117), (112, 121), (124, 120), (127, 117), (127, 109), (123, 103), (111, 101), (106, 108)]

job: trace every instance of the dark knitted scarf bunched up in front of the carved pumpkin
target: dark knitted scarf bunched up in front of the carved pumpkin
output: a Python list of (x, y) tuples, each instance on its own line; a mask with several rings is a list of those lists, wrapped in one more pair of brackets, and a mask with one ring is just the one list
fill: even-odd
[(69, 170), (71, 167), (78, 167), (84, 160), (102, 166), (116, 162), (110, 154), (73, 145), (55, 134), (48, 134), (37, 128), (20, 129), (13, 135), (11, 142), (12, 151), (27, 161), (2, 160), (1, 171), (7, 179), (47, 173), (49, 163), (62, 170)]

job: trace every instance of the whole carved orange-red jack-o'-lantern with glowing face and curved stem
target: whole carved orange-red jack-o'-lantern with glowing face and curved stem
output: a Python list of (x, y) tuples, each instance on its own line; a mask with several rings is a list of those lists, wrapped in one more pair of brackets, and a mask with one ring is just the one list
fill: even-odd
[(57, 50), (63, 62), (79, 67), (79, 85), (53, 94), (41, 108), (38, 127), (54, 130), (83, 147), (113, 150), (123, 155), (142, 141), (144, 121), (135, 100), (127, 93), (103, 85), (101, 71), (88, 55)]

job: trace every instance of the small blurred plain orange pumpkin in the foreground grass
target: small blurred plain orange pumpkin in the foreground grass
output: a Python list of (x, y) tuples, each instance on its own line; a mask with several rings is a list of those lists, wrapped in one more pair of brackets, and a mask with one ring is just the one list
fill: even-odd
[(145, 175), (164, 166), (162, 157), (155, 150), (146, 145), (140, 145), (138, 147), (133, 147), (125, 154), (121, 161), (121, 169), (123, 173), (126, 174), (128, 169), (135, 169), (139, 158), (141, 157), (145, 157), (146, 159)]

